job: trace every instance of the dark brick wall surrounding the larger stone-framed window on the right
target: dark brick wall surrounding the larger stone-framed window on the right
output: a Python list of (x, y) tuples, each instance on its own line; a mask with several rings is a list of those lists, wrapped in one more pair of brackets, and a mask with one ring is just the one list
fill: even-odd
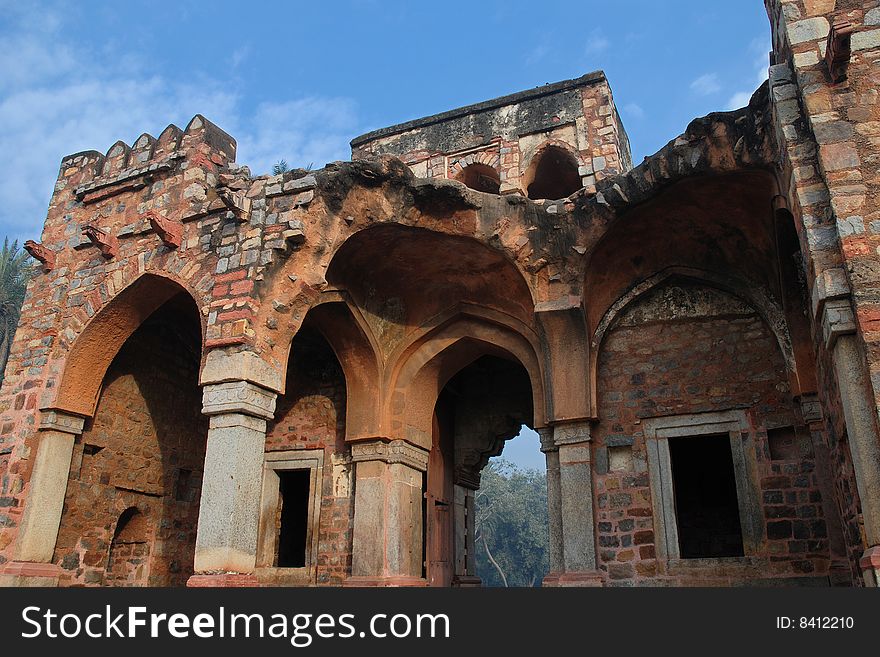
[[(809, 434), (790, 401), (774, 335), (725, 293), (667, 284), (637, 300), (606, 337), (599, 359), (596, 509), (600, 568), (612, 584), (660, 577), (729, 583), (757, 576), (824, 575), (827, 526)], [(655, 559), (644, 418), (746, 409), (756, 446), (766, 544), (753, 569), (692, 568), (663, 575)], [(767, 428), (797, 427), (802, 456), (771, 461)], [(609, 459), (603, 450), (627, 449)], [(769, 566), (768, 566), (769, 564)], [(692, 572), (691, 572), (692, 571)]]

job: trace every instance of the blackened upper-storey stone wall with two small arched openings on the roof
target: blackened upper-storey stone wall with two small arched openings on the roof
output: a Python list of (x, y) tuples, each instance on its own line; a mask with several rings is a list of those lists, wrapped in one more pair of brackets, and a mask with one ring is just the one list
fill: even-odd
[(480, 163), (501, 193), (526, 194), (521, 180), (547, 144), (574, 155), (583, 185), (632, 168), (629, 140), (601, 72), (385, 128), (352, 141), (352, 159), (391, 154), (424, 178), (455, 178)]

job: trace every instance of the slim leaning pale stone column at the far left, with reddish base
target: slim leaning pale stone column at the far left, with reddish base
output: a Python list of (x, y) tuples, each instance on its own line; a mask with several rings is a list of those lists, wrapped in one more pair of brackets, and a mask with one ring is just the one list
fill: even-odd
[(59, 410), (40, 413), (37, 454), (31, 471), (24, 514), (18, 529), (15, 561), (6, 565), (0, 582), (9, 586), (54, 586), (52, 564), (61, 511), (70, 475), (73, 443), (85, 420)]

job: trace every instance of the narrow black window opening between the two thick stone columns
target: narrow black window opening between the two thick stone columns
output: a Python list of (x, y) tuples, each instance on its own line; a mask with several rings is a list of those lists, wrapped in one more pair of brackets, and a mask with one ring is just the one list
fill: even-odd
[(309, 470), (278, 470), (278, 509), (275, 516), (279, 568), (302, 568), (306, 565), (306, 542), (309, 523)]

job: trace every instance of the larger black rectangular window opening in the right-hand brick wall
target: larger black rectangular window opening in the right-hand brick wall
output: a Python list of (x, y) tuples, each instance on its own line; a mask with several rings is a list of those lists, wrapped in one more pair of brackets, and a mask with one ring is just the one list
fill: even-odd
[(671, 438), (669, 457), (681, 557), (744, 556), (727, 434)]

